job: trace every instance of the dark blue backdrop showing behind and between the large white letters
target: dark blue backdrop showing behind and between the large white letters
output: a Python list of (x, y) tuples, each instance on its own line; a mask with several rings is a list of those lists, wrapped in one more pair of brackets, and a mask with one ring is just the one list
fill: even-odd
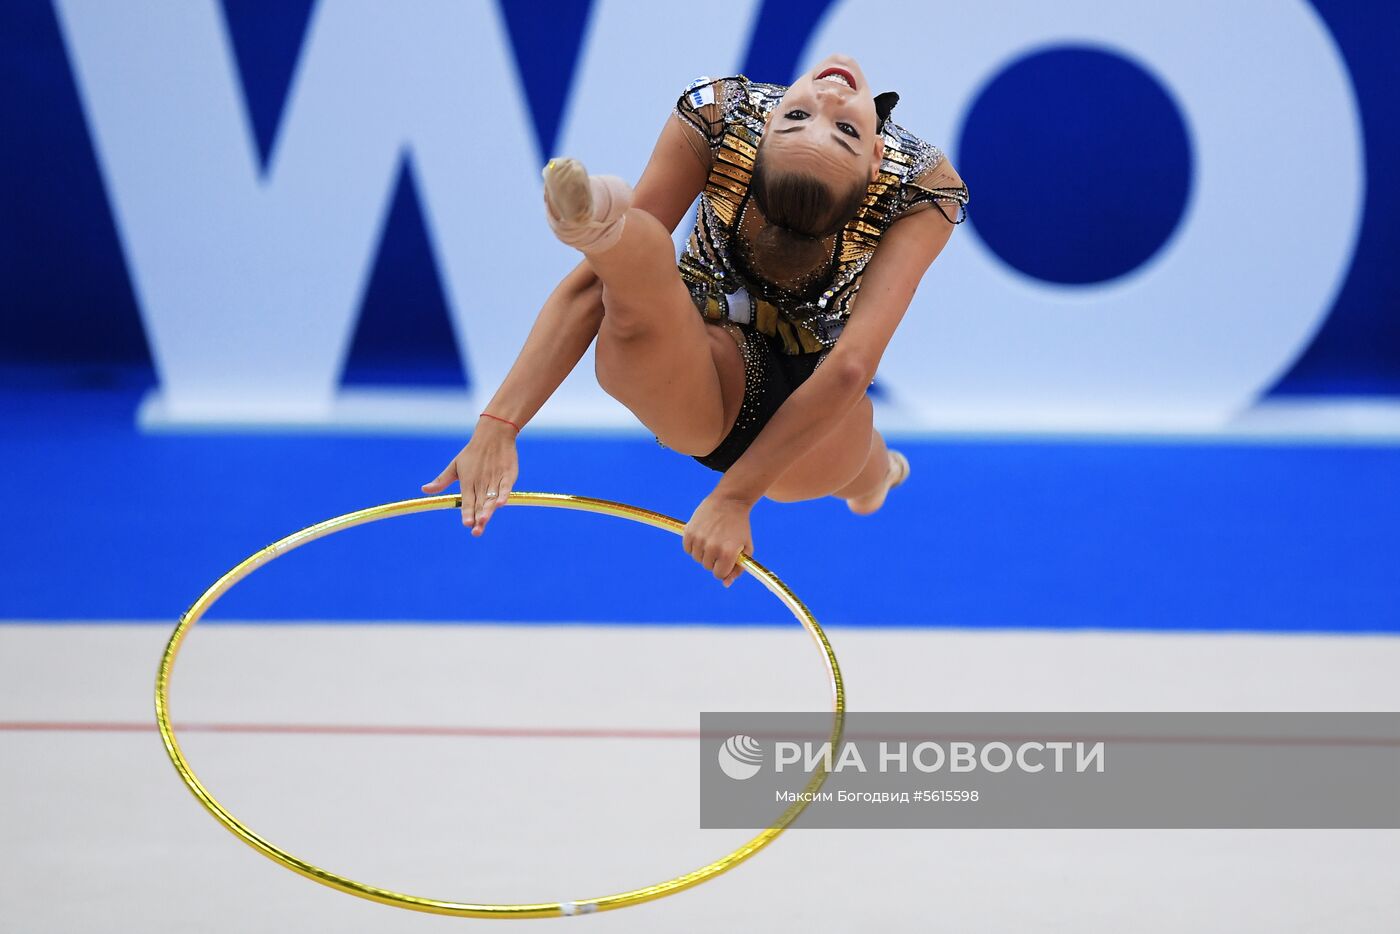
[[(1365, 133), (1366, 202), (1361, 237), (1336, 305), (1312, 344), (1273, 388), (1280, 393), (1400, 392), (1400, 129), (1396, 4), (1315, 0), (1350, 70)], [(553, 153), (592, 13), (588, 0), (501, 3), (525, 88), (538, 157)], [(743, 70), (787, 81), (827, 3), (766, 0)], [(277, 134), (311, 0), (223, 0), (248, 112), (266, 161)], [(930, 24), (937, 10), (930, 8)], [(956, 38), (949, 38), (956, 41)], [(717, 66), (718, 67), (718, 66)], [(43, 0), (0, 6), (0, 358), (134, 367), (151, 377), (132, 284), (55, 11)], [(682, 83), (692, 76), (671, 76)], [(878, 77), (878, 76), (876, 76)], [(1046, 106), (1053, 88), (1057, 108)], [(1072, 105), (1067, 106), (1065, 101)], [(1054, 113), (1054, 119), (1047, 115)], [(1113, 126), (1116, 132), (1093, 133)], [(951, 141), (952, 143), (952, 141)], [(1007, 67), (969, 111), (956, 140), (960, 171), (976, 179), (973, 223), (1009, 265), (1047, 281), (1106, 280), (1142, 263), (1180, 218), (1191, 160), (1170, 99), (1124, 59), (1088, 48), (1040, 50)], [(1299, 192), (1280, 192), (1306, 223), (1327, 196), (1327, 165), (1305, 153)], [(1030, 190), (1035, 161), (1095, 167)], [(1141, 199), (1144, 188), (1154, 197)], [(1018, 204), (1032, 199), (1028, 216)], [(1063, 220), (1071, 217), (1072, 223)], [(99, 311), (99, 314), (97, 314)], [(347, 382), (461, 385), (470, 379), (448, 339), (442, 287), (412, 175), (400, 176), (384, 228)]]

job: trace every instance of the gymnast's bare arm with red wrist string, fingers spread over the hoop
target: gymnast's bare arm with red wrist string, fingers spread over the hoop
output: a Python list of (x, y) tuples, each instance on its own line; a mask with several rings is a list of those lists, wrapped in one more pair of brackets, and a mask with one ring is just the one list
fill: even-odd
[[(633, 207), (645, 210), (671, 231), (699, 196), (708, 171), (692, 158), (657, 158), (657, 153), (673, 153), (676, 147), (693, 148), (686, 133), (678, 120), (666, 119), (633, 195)], [(585, 259), (550, 293), (519, 356), (483, 409), (496, 417), (480, 416), (466, 447), (437, 479), (423, 485), (424, 493), (441, 493), (454, 482), (461, 483), (462, 524), (472, 528), (472, 535), (482, 535), (519, 475), (515, 428), (507, 421), (524, 427), (535, 417), (578, 365), (602, 319), (602, 283)], [(490, 492), (496, 497), (487, 497)]]

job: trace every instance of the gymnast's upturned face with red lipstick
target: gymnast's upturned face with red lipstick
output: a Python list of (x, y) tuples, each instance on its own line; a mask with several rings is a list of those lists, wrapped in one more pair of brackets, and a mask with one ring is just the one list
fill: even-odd
[(829, 55), (797, 78), (767, 116), (764, 160), (843, 182), (874, 181), (885, 155), (875, 95), (855, 59)]

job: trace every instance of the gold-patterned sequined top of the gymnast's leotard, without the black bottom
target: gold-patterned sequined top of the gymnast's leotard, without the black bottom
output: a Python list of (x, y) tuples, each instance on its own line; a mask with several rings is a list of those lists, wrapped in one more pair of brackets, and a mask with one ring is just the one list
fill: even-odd
[(846, 326), (861, 273), (881, 235), (921, 204), (949, 221), (966, 217), (967, 188), (939, 188), (944, 153), (890, 119), (883, 122), (885, 158), (855, 217), (836, 237), (825, 276), (783, 287), (753, 274), (732, 248), (749, 204), (753, 160), (763, 120), (787, 87), (750, 81), (742, 74), (694, 80), (676, 101), (675, 113), (710, 150), (710, 176), (700, 195), (694, 231), (680, 255), (680, 276), (700, 312), (710, 319), (748, 323), (777, 337), (783, 353), (830, 350)]

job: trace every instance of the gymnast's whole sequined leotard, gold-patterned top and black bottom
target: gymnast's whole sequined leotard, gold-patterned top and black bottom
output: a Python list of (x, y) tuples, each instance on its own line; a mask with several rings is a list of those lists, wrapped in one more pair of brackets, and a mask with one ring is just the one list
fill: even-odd
[[(694, 459), (727, 471), (759, 435), (778, 406), (816, 370), (836, 344), (860, 290), (861, 273), (881, 235), (913, 210), (937, 207), (951, 223), (966, 218), (967, 188), (941, 188), (944, 154), (890, 119), (881, 133), (885, 158), (855, 217), (836, 235), (830, 262), (805, 279), (774, 283), (752, 270), (739, 237), (749, 211), (749, 181), (764, 116), (787, 87), (742, 74), (692, 81), (675, 115), (694, 130), (710, 175), (696, 224), (679, 259), (680, 277), (696, 308), (731, 330), (745, 357), (739, 416), (720, 445)], [(956, 176), (953, 176), (956, 178)], [(953, 207), (949, 217), (944, 204)], [(659, 440), (658, 440), (659, 444)]]

